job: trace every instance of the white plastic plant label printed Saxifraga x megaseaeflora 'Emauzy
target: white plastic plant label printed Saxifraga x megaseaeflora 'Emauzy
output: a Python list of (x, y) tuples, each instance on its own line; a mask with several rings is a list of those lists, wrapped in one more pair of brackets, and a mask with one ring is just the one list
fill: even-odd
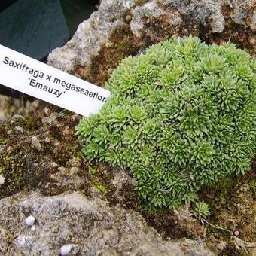
[(0, 44), (0, 84), (78, 114), (96, 114), (110, 96), (90, 84)]

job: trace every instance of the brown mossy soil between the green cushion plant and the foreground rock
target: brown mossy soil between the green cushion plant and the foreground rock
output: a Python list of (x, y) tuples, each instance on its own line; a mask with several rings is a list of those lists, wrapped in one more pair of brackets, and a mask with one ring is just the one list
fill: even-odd
[(191, 216), (192, 208), (143, 212), (130, 181), (124, 181), (119, 188), (113, 184), (118, 169), (88, 163), (82, 157), (78, 138), (74, 136), (80, 120), (77, 114), (43, 102), (38, 102), (29, 113), (20, 114), (0, 123), (0, 173), (5, 177), (0, 198), (20, 190), (39, 190), (49, 196), (79, 190), (87, 197), (94, 197), (92, 187), (96, 187), (99, 197), (110, 204), (120, 204), (143, 215), (163, 239), (200, 236), (216, 254), (254, 254), (253, 248), (239, 248), (233, 238), (245, 242), (254, 242), (256, 238), (255, 163), (245, 176), (229, 177), (200, 193), (200, 200), (211, 207), (212, 215), (206, 220), (230, 230), (227, 232), (203, 225)]

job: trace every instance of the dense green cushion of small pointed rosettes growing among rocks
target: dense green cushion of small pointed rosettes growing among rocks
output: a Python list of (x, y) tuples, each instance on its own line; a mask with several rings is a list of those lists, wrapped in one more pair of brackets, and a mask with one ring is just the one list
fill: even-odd
[(83, 152), (129, 169), (145, 209), (194, 202), (203, 186), (250, 168), (255, 59), (233, 44), (155, 44), (124, 59), (106, 87), (111, 98), (77, 127)]

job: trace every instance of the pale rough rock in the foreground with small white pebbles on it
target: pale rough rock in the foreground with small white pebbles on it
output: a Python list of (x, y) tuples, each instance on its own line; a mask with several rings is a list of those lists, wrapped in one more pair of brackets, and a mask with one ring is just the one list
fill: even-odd
[[(23, 228), (27, 215), (37, 219), (34, 231)], [(2, 199), (0, 227), (5, 255), (57, 255), (63, 245), (74, 245), (72, 253), (78, 255), (212, 254), (202, 240), (163, 241), (137, 212), (76, 192), (55, 197), (20, 193)]]

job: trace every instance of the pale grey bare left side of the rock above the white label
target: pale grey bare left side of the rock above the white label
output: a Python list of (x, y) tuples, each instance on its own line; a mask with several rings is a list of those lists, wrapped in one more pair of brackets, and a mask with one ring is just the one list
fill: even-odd
[(50, 53), (48, 64), (65, 72), (73, 72), (78, 65), (90, 65), (91, 57), (99, 53), (101, 44), (108, 43), (111, 32), (123, 24), (123, 13), (133, 5), (134, 0), (102, 1), (99, 11), (78, 26), (72, 40)]

